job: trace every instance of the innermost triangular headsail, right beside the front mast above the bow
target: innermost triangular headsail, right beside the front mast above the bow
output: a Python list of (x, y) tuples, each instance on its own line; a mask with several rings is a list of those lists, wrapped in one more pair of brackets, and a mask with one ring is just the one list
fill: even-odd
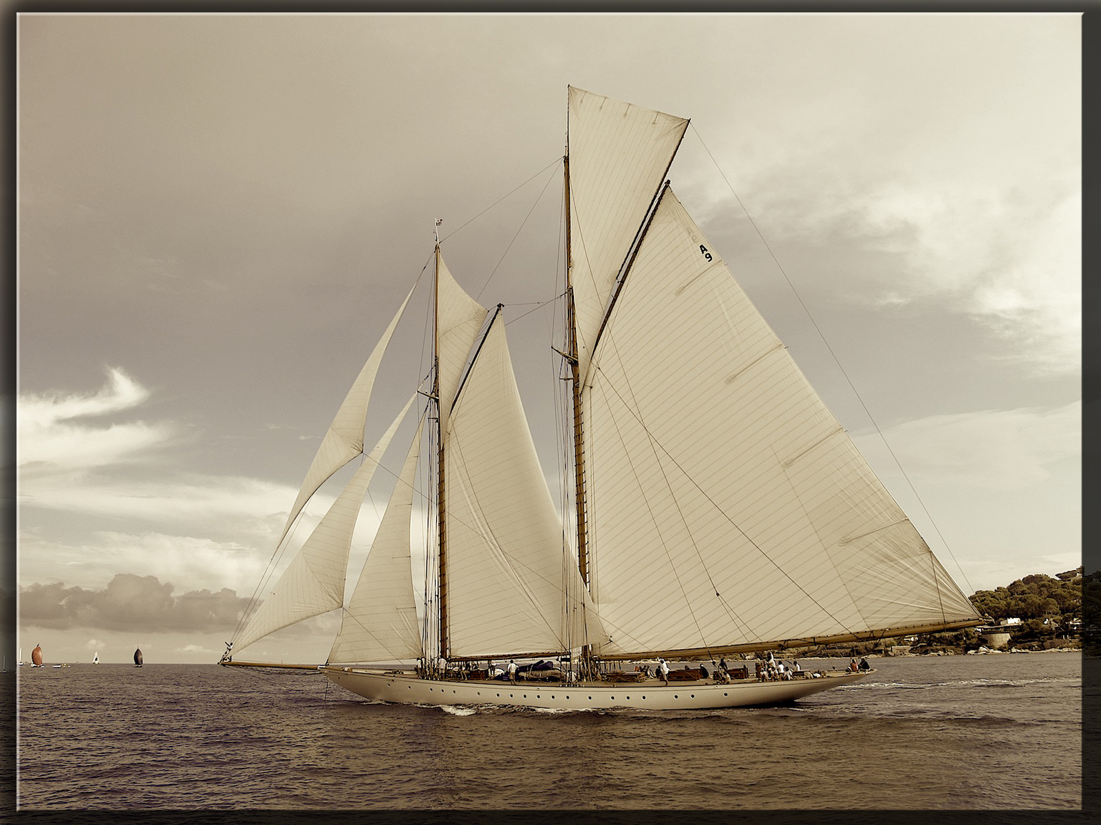
[(413, 595), (410, 519), (424, 418), (345, 609), (329, 663), (394, 662), (422, 656)]

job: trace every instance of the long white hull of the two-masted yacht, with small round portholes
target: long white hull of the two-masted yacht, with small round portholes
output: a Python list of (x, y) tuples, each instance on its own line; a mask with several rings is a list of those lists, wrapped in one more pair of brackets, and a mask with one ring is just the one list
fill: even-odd
[(819, 679), (759, 682), (735, 680), (730, 684), (657, 680), (628, 684), (582, 683), (566, 686), (552, 682), (443, 681), (418, 679), (411, 673), (361, 668), (323, 667), (325, 675), (352, 693), (369, 700), (413, 705), (519, 705), (558, 711), (610, 707), (673, 711), (682, 708), (742, 707), (791, 702), (811, 693), (850, 684), (868, 675), (836, 672)]

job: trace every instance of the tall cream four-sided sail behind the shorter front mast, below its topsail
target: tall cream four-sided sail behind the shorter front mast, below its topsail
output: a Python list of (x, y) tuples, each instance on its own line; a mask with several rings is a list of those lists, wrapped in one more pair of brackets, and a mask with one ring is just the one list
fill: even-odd
[[(455, 657), (579, 646), (585, 588), (539, 468), (499, 315), (446, 439), (448, 639)], [(564, 615), (564, 594), (578, 607)], [(591, 616), (590, 616), (591, 619)], [(599, 626), (590, 632), (600, 632)]]

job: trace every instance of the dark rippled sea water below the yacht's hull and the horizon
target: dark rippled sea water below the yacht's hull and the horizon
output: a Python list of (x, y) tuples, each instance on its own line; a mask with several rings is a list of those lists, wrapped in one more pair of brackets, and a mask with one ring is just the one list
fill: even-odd
[(1080, 653), (872, 661), (795, 705), (612, 713), (367, 704), (212, 664), (24, 667), (18, 804), (1081, 807)]

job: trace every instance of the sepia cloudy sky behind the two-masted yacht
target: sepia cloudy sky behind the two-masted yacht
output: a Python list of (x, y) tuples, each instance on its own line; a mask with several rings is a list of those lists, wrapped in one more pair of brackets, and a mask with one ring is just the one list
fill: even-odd
[[(218, 659), (436, 219), (456, 279), (506, 305), (558, 488), (568, 85), (691, 118), (677, 196), (966, 594), (1081, 563), (1079, 14), (21, 14), (17, 34), (0, 586), (24, 658)], [(369, 443), (424, 363), (416, 323)], [(255, 652), (324, 661), (336, 623)]]

